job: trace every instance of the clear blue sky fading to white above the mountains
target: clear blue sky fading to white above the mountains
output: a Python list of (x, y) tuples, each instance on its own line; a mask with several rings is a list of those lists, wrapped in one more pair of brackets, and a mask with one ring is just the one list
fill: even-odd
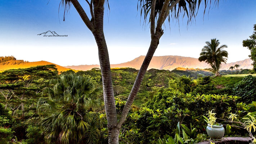
[[(63, 22), (63, 9), (58, 13), (60, 0), (48, 1), (0, 0), (0, 56), (13, 55), (30, 62), (46, 60), (61, 66), (99, 64), (94, 37), (75, 8), (71, 6)], [(85, 0), (79, 1), (88, 11)], [(140, 22), (137, 2), (109, 0), (104, 33), (112, 64), (147, 53), (150, 32)], [(242, 46), (242, 41), (252, 35), (253, 24), (256, 0), (220, 0), (219, 6), (204, 17), (199, 10), (196, 22), (188, 26), (187, 19), (167, 25), (154, 55), (198, 58), (205, 42), (217, 38), (228, 45), (228, 62), (243, 60), (250, 51)], [(68, 37), (37, 36), (49, 30)]]

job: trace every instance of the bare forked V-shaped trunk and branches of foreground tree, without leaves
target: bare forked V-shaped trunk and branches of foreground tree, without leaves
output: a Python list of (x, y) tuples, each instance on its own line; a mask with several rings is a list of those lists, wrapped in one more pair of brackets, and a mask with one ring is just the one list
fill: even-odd
[(151, 9), (151, 44), (149, 46), (148, 53), (143, 61), (142, 67), (140, 68), (139, 73), (136, 77), (133, 89), (131, 90), (129, 98), (127, 99), (125, 107), (123, 108), (120, 120), (117, 123), (116, 104), (114, 100), (109, 55), (103, 32), (104, 0), (93, 0), (91, 4), (88, 2), (88, 4), (90, 5), (90, 13), (92, 16), (91, 21), (87, 17), (84, 9), (79, 4), (79, 2), (77, 0), (71, 0), (80, 17), (89, 28), (89, 30), (93, 33), (98, 46), (100, 69), (102, 72), (104, 105), (108, 121), (109, 144), (118, 144), (119, 130), (121, 129), (121, 126), (125, 121), (127, 113), (129, 112), (129, 109), (131, 107), (131, 104), (133, 103), (135, 96), (139, 91), (139, 87), (143, 80), (145, 72), (147, 71), (149, 63), (159, 44), (159, 39), (163, 35), (163, 31), (161, 28), (162, 24), (165, 21), (169, 10), (173, 8), (176, 4), (178, 4), (179, 1), (180, 0), (176, 0), (174, 3), (172, 3), (172, 5), (169, 6), (170, 0), (165, 0), (165, 4), (163, 5), (155, 31), (154, 5), (156, 4), (156, 0), (153, 0), (153, 10)]

